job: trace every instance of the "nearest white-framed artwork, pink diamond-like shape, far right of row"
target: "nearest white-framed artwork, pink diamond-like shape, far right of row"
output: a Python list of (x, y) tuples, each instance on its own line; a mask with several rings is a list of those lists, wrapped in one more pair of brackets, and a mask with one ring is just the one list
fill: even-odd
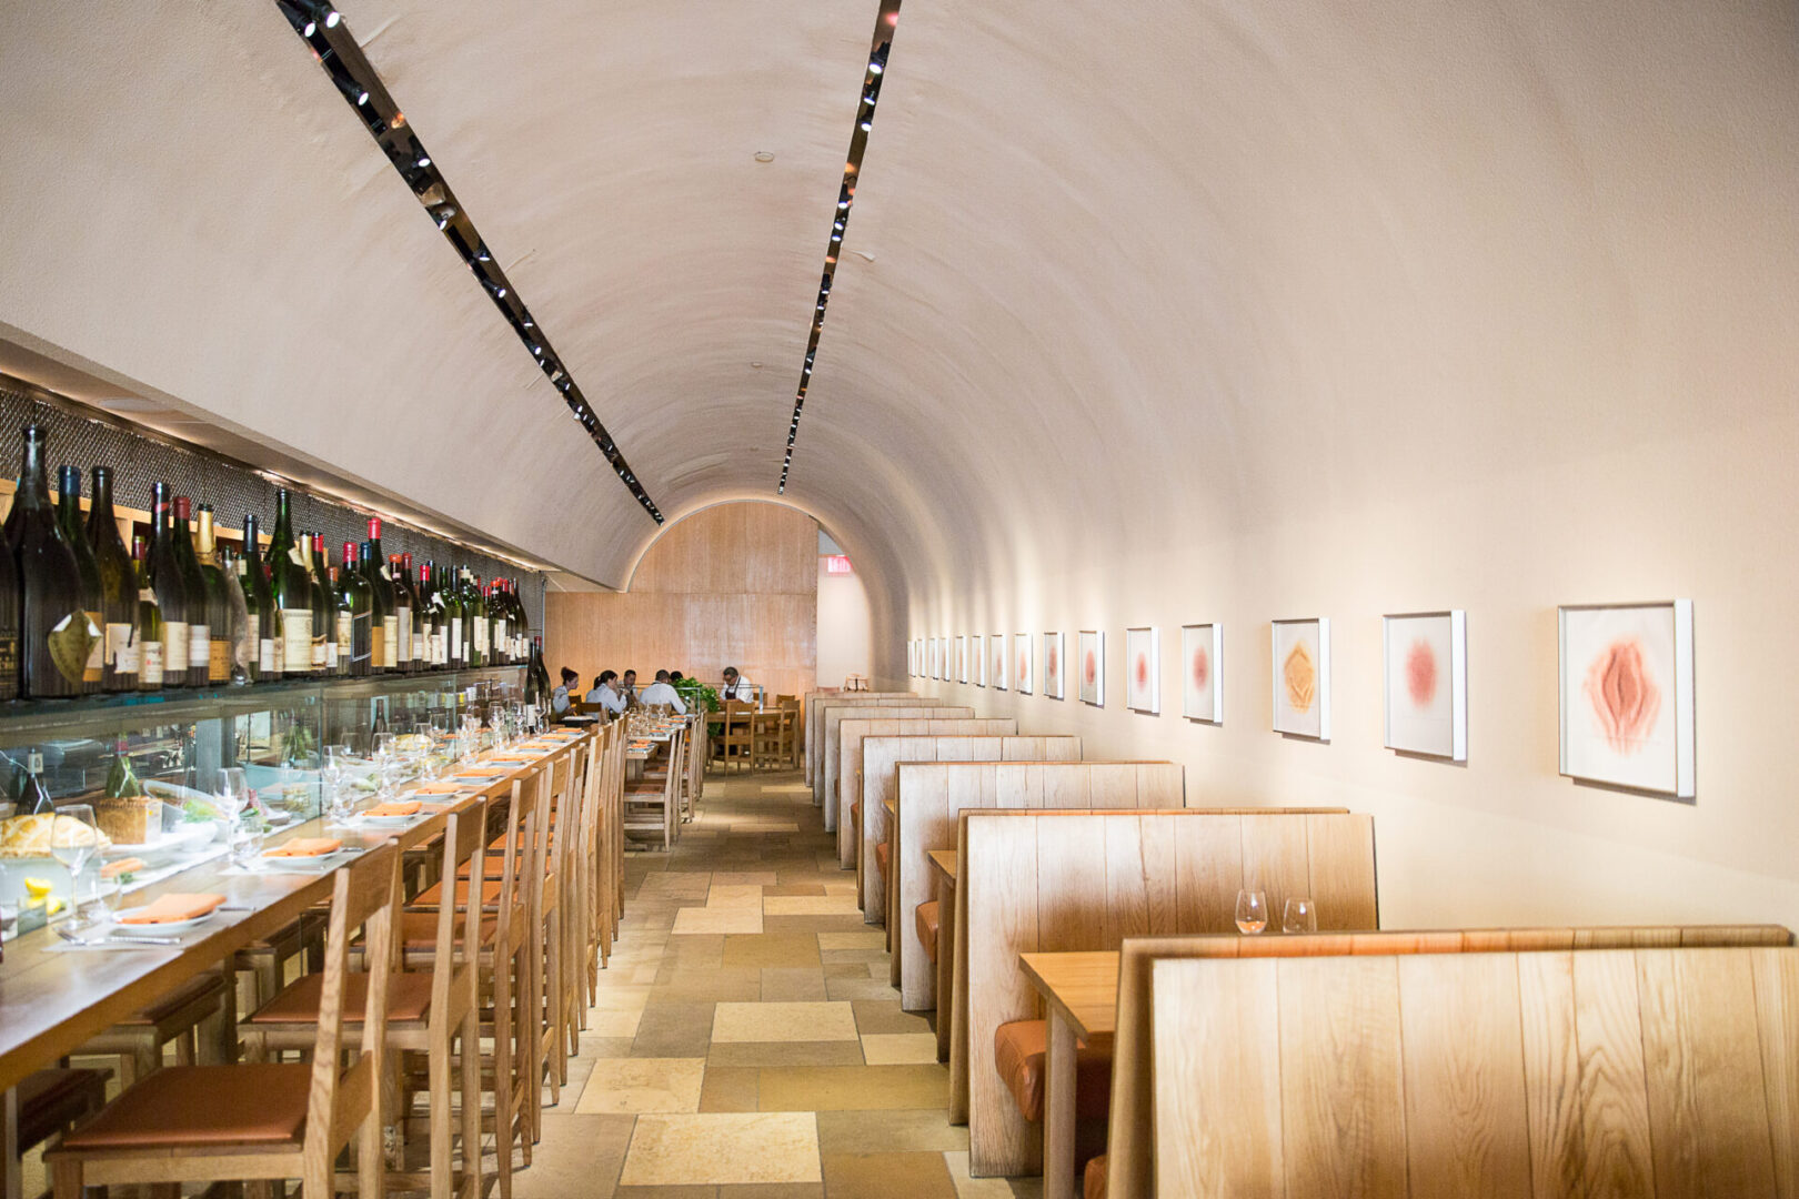
[(1693, 600), (1556, 609), (1562, 773), (1695, 796)]

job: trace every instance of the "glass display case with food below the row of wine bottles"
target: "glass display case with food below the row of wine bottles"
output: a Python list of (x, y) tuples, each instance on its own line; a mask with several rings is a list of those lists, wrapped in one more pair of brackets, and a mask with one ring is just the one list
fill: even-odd
[(324, 746), (369, 755), (380, 733), (450, 733), (518, 699), (524, 676), (489, 667), (0, 705), (0, 906), (68, 892), (43, 822), (16, 820), (41, 805), (34, 780), (58, 807), (92, 805), (104, 847), (90, 872), (122, 856), (173, 866), (218, 834), (221, 771), (241, 768), (270, 820), (309, 820), (326, 804)]

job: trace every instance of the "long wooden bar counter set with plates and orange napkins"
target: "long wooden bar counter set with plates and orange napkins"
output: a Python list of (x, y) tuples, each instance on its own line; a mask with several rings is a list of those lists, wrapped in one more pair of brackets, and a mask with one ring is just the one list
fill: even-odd
[[(513, 780), (536, 769), (558, 753), (586, 748), (592, 732), (568, 737), (531, 762), (506, 764), (491, 782), (470, 784), (464, 793), (441, 796), (444, 811), (403, 829), (331, 825), (324, 818), (308, 820), (270, 838), (270, 847), (291, 838), (331, 836), (345, 848), (374, 848), (389, 839), (401, 850), (426, 843), (443, 832), (450, 811), (462, 811), (480, 798), (507, 793)], [(421, 796), (432, 800), (437, 796)], [(83, 949), (50, 953), (63, 942), (54, 926), (27, 933), (5, 946), (0, 964), (0, 1091), (59, 1057), (74, 1053), (86, 1041), (112, 1028), (189, 978), (230, 962), (252, 942), (273, 935), (308, 908), (331, 897), (331, 875), (308, 874), (225, 874), (227, 861), (214, 857), (162, 883), (133, 892), (144, 902), (166, 892), (207, 892), (225, 895), (227, 906), (250, 911), (219, 911), (205, 926), (205, 935), (182, 946), (144, 946), (142, 949)], [(155, 929), (144, 929), (153, 933)], [(227, 987), (227, 994), (230, 989)]]

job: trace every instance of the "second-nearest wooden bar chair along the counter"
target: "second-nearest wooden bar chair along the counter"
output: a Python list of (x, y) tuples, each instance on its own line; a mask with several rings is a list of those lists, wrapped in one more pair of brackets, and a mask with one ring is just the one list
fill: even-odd
[[(488, 841), (488, 804), (450, 813), (443, 836), (443, 870), (439, 877), (457, 877), (462, 866), (471, 875), (484, 874)], [(434, 915), (430, 962), (437, 969), (401, 973), (403, 953), (396, 937), (396, 953), (385, 964), (392, 971), (387, 980), (387, 1048), (399, 1053), (423, 1053), (426, 1059), (426, 1104), (430, 1122), (430, 1170), (389, 1172), (387, 1183), (396, 1188), (430, 1188), (432, 1199), (464, 1195), (480, 1199), (480, 990), (479, 962), (482, 949), (480, 904), (462, 908), (461, 920), (453, 904), (444, 904)], [(457, 928), (461, 924), (461, 928)], [(344, 1025), (351, 1030), (363, 1023), (369, 992), (369, 973), (380, 969), (363, 956), (365, 973), (351, 974), (345, 987)], [(282, 1052), (309, 1050), (315, 1028), (324, 1014), (324, 976), (308, 974), (286, 987), (257, 1008), (243, 1025), (245, 1050), (250, 1061), (277, 1059)], [(394, 1071), (398, 1073), (398, 1070)], [(452, 1075), (462, 1095), (462, 1176), (455, 1176), (453, 1149), (455, 1107)], [(405, 1089), (401, 1089), (405, 1095)], [(396, 1124), (410, 1111), (401, 1100), (398, 1113), (389, 1113)]]

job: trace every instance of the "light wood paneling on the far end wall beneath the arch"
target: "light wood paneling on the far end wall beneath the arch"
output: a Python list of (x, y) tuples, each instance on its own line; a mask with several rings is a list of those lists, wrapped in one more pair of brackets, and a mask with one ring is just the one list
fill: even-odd
[(628, 591), (552, 591), (543, 604), (550, 676), (581, 688), (612, 669), (648, 685), (660, 669), (718, 685), (738, 667), (770, 696), (817, 685), (819, 525), (777, 503), (720, 503), (673, 525)]

